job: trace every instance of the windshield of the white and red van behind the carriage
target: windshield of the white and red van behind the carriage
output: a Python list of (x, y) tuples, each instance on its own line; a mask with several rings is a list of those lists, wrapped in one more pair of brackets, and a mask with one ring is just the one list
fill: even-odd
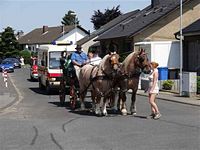
[(49, 53), (49, 69), (60, 69), (61, 51)]

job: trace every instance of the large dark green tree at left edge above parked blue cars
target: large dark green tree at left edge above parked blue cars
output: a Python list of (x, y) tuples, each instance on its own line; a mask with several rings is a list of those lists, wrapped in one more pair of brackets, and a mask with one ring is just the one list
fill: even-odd
[(11, 27), (5, 28), (0, 35), (0, 51), (3, 53), (19, 50), (19, 43)]

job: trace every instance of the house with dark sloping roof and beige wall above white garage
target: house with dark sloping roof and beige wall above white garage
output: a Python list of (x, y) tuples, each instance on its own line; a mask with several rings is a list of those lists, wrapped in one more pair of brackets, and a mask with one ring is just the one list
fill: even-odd
[[(183, 27), (198, 20), (199, 14), (199, 0), (183, 0)], [(179, 17), (180, 0), (151, 0), (151, 5), (116, 24), (96, 40), (101, 45), (114, 42), (121, 51), (133, 50), (136, 42), (176, 40), (174, 33), (180, 28)]]

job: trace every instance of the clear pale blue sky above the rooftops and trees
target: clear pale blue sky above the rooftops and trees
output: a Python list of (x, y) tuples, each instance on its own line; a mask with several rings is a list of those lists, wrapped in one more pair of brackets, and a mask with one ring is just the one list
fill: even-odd
[(120, 11), (127, 13), (150, 3), (151, 0), (0, 0), (0, 32), (8, 26), (25, 34), (43, 25), (60, 26), (69, 10), (77, 14), (84, 29), (92, 32), (94, 11), (104, 12), (120, 5)]

